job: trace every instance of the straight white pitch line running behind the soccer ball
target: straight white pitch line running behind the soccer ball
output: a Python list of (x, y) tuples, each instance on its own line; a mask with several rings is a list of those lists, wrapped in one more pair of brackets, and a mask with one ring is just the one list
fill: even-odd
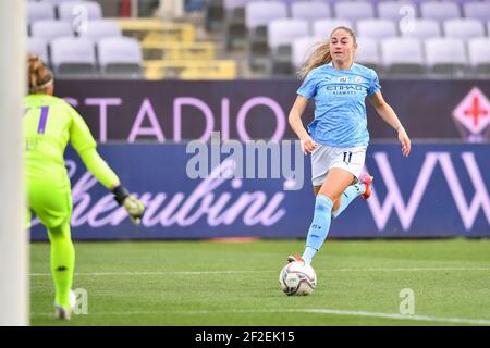
[[(490, 268), (400, 268), (400, 269), (332, 269), (317, 272), (465, 272), (490, 271)], [(246, 274), (275, 273), (277, 271), (161, 271), (161, 272), (81, 272), (77, 276), (119, 276), (119, 275), (212, 275), (212, 274)], [(30, 276), (51, 276), (51, 273), (30, 273)]]

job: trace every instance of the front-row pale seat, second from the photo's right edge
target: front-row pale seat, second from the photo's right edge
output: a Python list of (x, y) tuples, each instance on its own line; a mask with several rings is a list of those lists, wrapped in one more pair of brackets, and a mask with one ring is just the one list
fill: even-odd
[(432, 38), (425, 42), (427, 65), (434, 75), (463, 76), (466, 72), (465, 44), (461, 39)]

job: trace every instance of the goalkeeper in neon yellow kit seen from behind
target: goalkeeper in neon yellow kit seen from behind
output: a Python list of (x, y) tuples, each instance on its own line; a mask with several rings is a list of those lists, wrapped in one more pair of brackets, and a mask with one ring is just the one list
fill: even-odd
[(29, 95), (24, 99), (24, 167), (28, 210), (47, 227), (51, 243), (51, 272), (54, 281), (54, 316), (70, 319), (75, 250), (71, 239), (72, 199), (63, 153), (68, 141), (95, 177), (114, 194), (133, 223), (139, 224), (144, 206), (121, 185), (100, 158), (85, 121), (68, 102), (53, 97), (53, 75), (36, 55), (28, 58)]

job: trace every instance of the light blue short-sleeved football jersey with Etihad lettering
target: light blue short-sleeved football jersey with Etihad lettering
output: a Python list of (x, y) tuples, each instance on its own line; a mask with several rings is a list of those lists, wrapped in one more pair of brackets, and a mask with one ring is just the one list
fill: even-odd
[(311, 138), (332, 147), (367, 146), (366, 96), (380, 89), (376, 72), (360, 64), (336, 70), (329, 63), (311, 70), (297, 90), (315, 99), (315, 120), (308, 125)]

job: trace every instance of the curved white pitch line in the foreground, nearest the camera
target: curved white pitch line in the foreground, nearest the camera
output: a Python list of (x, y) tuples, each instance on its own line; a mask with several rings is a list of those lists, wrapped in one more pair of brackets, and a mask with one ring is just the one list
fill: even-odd
[[(402, 321), (422, 321), (422, 322), (438, 322), (452, 324), (468, 324), (468, 325), (490, 325), (490, 320), (487, 319), (466, 319), (466, 318), (441, 318), (430, 315), (403, 315), (397, 313), (380, 313), (367, 311), (350, 311), (336, 309), (282, 309), (282, 310), (231, 310), (231, 311), (127, 311), (127, 312), (96, 312), (88, 313), (95, 316), (120, 316), (120, 315), (164, 315), (164, 314), (183, 314), (183, 315), (212, 315), (212, 314), (238, 314), (238, 313), (310, 313), (310, 314), (331, 314), (331, 315), (346, 315), (346, 316), (362, 316), (362, 318), (382, 318)], [(52, 313), (32, 313), (33, 316), (49, 316)]]

